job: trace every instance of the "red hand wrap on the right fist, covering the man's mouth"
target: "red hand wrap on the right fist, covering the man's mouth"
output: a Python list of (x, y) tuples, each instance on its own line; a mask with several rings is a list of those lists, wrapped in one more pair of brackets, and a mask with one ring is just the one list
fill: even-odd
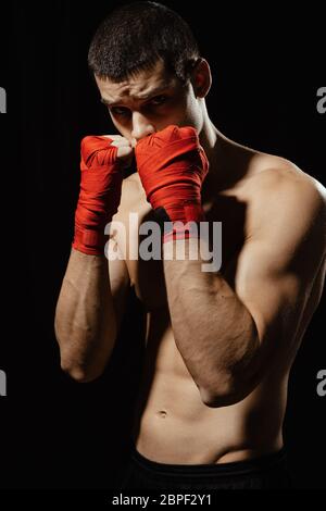
[(186, 224), (204, 221), (201, 186), (209, 171), (196, 129), (168, 126), (139, 140), (135, 153), (147, 200), (161, 222), (172, 222), (163, 241), (190, 237)]

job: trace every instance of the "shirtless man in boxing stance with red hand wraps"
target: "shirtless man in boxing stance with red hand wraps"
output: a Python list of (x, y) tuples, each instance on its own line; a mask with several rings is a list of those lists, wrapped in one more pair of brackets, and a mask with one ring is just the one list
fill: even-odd
[[(211, 122), (210, 66), (188, 25), (152, 2), (97, 30), (89, 65), (121, 135), (82, 142), (75, 237), (55, 314), (62, 369), (101, 375), (130, 286), (147, 313), (135, 451), (122, 488), (285, 488), (289, 372), (325, 277), (325, 188), (290, 161), (243, 147)], [(137, 172), (123, 179), (136, 162)], [(209, 165), (208, 165), (209, 162)], [(209, 167), (209, 169), (208, 169)], [(222, 266), (189, 258), (196, 236), (162, 236), (133, 260), (111, 220), (222, 222)], [(161, 241), (161, 238), (160, 238)], [(186, 246), (184, 260), (164, 259)]]

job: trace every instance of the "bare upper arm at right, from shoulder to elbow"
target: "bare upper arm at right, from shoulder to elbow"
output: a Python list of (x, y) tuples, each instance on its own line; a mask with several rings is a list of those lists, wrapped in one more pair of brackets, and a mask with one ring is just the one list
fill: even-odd
[[(277, 189), (280, 207), (261, 203), (239, 257), (236, 291), (264, 339), (296, 334), (325, 257), (325, 200), (311, 185)], [(304, 204), (304, 207), (302, 205)]]

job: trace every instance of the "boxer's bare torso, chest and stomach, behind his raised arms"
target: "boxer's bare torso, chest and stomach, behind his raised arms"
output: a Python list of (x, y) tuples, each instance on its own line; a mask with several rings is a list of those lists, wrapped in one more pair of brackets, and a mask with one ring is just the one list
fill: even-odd
[[(279, 169), (284, 165), (284, 172), (301, 173), (294, 165), (289, 169), (284, 160), (268, 154), (256, 153), (249, 161), (251, 169), (244, 178), (223, 192), (213, 194), (213, 199), (203, 204), (206, 220), (223, 222), (221, 272), (233, 288), (237, 278), (237, 256), (250, 232), (250, 208), (259, 187), (256, 177), (275, 164)], [(310, 178), (301, 174), (302, 178)], [(139, 213), (140, 222), (150, 220), (151, 208), (138, 174), (125, 180), (123, 194), (133, 197), (127, 200), (129, 210)], [(125, 220), (126, 213), (123, 212)], [(130, 236), (139, 244), (137, 229)], [(175, 345), (162, 261), (126, 258), (126, 264), (137, 297), (147, 310), (145, 370), (133, 433), (138, 451), (156, 462), (197, 464), (239, 461), (279, 449), (283, 446), (287, 382), (296, 350), (242, 401), (223, 408), (206, 407)], [(305, 320), (293, 342), (296, 349), (315, 308), (321, 286), (322, 276), (315, 279)]]

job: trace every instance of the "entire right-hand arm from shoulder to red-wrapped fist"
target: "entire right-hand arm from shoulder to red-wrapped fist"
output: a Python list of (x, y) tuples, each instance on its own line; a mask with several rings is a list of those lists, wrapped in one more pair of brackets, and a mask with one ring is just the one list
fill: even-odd
[(163, 236), (163, 264), (176, 346), (204, 403), (238, 402), (293, 352), (324, 265), (325, 188), (290, 169), (260, 173), (233, 289), (221, 273), (202, 272), (200, 258), (165, 258), (172, 244), (189, 250), (196, 241), (183, 239), (188, 235), (177, 222), (204, 220), (208, 160), (196, 129), (167, 126), (139, 140), (135, 154), (147, 200), (173, 225)]

